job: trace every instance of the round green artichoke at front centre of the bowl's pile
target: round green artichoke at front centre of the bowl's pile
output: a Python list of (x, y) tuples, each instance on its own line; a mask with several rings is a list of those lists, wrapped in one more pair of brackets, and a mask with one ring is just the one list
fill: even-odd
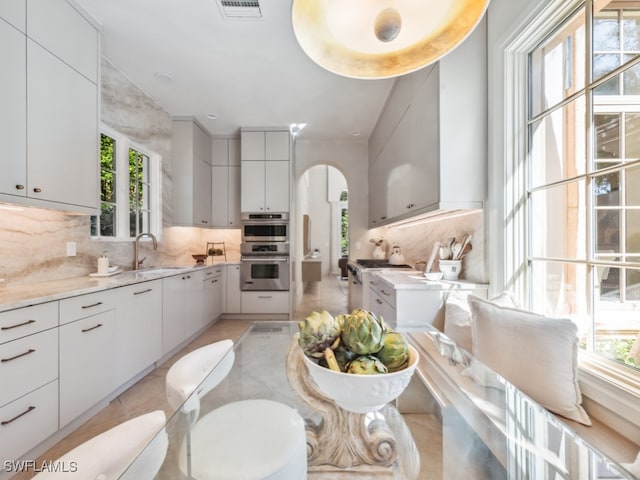
[(344, 346), (358, 355), (378, 353), (384, 345), (387, 326), (382, 317), (356, 308), (344, 317), (341, 339)]

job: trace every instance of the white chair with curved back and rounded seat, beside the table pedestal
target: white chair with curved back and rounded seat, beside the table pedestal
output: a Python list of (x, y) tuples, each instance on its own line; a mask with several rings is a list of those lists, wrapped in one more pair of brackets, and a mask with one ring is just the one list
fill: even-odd
[(198, 419), (199, 399), (231, 370), (231, 347), (232, 342), (224, 340), (194, 350), (167, 373), (169, 403), (187, 416), (180, 470), (197, 480), (306, 478), (305, 424), (293, 408), (273, 400), (243, 400)]

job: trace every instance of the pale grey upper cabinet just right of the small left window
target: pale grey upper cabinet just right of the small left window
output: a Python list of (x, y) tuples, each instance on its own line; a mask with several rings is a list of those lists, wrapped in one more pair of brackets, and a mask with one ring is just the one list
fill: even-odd
[(193, 119), (174, 119), (173, 223), (210, 227), (211, 137)]

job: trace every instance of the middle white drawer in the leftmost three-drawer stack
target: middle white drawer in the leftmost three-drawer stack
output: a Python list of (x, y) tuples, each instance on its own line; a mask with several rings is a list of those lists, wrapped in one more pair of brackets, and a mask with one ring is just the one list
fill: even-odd
[(58, 378), (58, 329), (0, 346), (0, 405)]

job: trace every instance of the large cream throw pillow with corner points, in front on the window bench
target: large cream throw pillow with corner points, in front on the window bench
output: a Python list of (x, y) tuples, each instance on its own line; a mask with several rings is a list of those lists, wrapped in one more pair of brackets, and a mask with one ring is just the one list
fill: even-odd
[(591, 425), (578, 386), (578, 327), (469, 295), (473, 354), (546, 409)]

